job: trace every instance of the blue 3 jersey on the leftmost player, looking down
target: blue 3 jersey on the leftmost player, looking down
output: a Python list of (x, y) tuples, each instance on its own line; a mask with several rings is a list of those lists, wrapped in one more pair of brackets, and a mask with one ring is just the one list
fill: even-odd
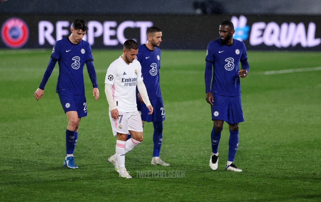
[(90, 44), (84, 40), (73, 44), (66, 37), (56, 41), (51, 58), (58, 61), (59, 65), (56, 92), (84, 95), (83, 66), (94, 60)]

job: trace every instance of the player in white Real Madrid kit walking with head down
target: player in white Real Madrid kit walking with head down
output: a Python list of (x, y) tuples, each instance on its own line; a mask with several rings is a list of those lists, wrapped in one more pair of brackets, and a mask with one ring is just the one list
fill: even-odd
[[(105, 78), (105, 93), (109, 104), (109, 118), (113, 135), (117, 136), (116, 153), (108, 158), (120, 177), (132, 178), (125, 168), (125, 154), (143, 141), (143, 125), (136, 104), (136, 86), (150, 114), (153, 107), (143, 82), (142, 67), (135, 60), (137, 43), (124, 43), (123, 55), (113, 61)], [(128, 132), (132, 138), (126, 141)]]

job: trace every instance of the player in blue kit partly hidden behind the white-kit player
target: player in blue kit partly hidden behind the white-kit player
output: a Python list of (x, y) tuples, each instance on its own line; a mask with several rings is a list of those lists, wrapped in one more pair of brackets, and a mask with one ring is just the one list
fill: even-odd
[[(163, 121), (165, 121), (165, 110), (163, 98), (160, 92), (160, 45), (162, 32), (160, 28), (150, 27), (146, 30), (147, 43), (138, 46), (137, 60), (142, 65), (144, 84), (148, 97), (154, 108), (154, 113), (149, 115), (149, 111), (143, 102), (140, 93), (137, 93), (137, 109), (141, 112), (142, 122), (153, 122), (153, 158), (151, 165), (169, 166), (160, 159), (160, 147), (163, 139)], [(130, 135), (127, 136), (127, 139)]]

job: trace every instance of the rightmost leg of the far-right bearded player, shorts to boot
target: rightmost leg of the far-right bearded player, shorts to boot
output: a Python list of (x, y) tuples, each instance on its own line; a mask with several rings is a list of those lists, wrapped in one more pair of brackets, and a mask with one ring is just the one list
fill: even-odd
[(226, 163), (226, 170), (241, 172), (242, 170), (234, 165), (234, 158), (239, 145), (239, 122), (244, 121), (240, 96), (230, 97), (229, 114), (229, 154)]

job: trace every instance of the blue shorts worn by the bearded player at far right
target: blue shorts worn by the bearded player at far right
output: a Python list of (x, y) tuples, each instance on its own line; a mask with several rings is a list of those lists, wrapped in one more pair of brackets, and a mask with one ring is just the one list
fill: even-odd
[(244, 121), (241, 96), (228, 97), (213, 94), (212, 120), (236, 124)]

